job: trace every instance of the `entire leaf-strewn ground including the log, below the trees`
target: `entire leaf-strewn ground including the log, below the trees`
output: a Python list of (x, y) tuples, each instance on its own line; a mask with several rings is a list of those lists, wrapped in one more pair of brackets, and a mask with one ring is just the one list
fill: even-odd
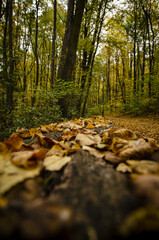
[(153, 239), (158, 119), (95, 116), (17, 129), (0, 143), (0, 237)]

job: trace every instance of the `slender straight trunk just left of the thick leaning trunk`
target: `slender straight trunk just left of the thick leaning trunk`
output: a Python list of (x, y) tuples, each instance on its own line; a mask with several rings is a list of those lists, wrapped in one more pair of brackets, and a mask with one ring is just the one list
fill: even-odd
[(54, 29), (52, 36), (52, 56), (51, 56), (51, 87), (55, 85), (56, 81), (56, 15), (57, 15), (57, 1), (54, 0)]

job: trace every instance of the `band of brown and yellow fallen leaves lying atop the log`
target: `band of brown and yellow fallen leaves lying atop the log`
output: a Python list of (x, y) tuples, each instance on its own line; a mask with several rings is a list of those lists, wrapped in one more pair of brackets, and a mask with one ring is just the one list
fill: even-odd
[[(56, 140), (48, 137), (50, 133), (56, 135)], [(24, 143), (28, 138), (29, 144)], [(159, 151), (154, 139), (137, 137), (124, 128), (117, 130), (100, 116), (80, 118), (30, 130), (17, 129), (9, 139), (1, 142), (0, 194), (26, 178), (37, 176), (43, 168), (61, 170), (80, 148), (114, 164), (117, 171), (129, 172), (132, 176), (159, 174), (159, 164), (152, 160)]]

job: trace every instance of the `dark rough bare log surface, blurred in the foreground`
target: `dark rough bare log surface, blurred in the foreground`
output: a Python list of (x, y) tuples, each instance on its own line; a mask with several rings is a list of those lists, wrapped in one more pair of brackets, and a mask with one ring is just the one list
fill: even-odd
[[(56, 136), (57, 132), (49, 135)], [(114, 240), (141, 238), (145, 233), (152, 237), (159, 232), (159, 225), (153, 233), (153, 227), (146, 229), (147, 223), (141, 229), (131, 226), (134, 221), (142, 225), (144, 217), (126, 223), (144, 204), (129, 175), (82, 149), (71, 157), (62, 170), (43, 169), (40, 176), (5, 194), (8, 204), (0, 209), (1, 239)], [(122, 226), (128, 235), (123, 235)]]

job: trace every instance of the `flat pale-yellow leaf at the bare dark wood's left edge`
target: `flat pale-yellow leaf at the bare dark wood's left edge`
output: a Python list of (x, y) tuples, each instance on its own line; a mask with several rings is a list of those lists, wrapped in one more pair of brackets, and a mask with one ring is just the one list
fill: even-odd
[(44, 159), (43, 166), (49, 171), (59, 171), (70, 161), (71, 157), (53, 155)]

